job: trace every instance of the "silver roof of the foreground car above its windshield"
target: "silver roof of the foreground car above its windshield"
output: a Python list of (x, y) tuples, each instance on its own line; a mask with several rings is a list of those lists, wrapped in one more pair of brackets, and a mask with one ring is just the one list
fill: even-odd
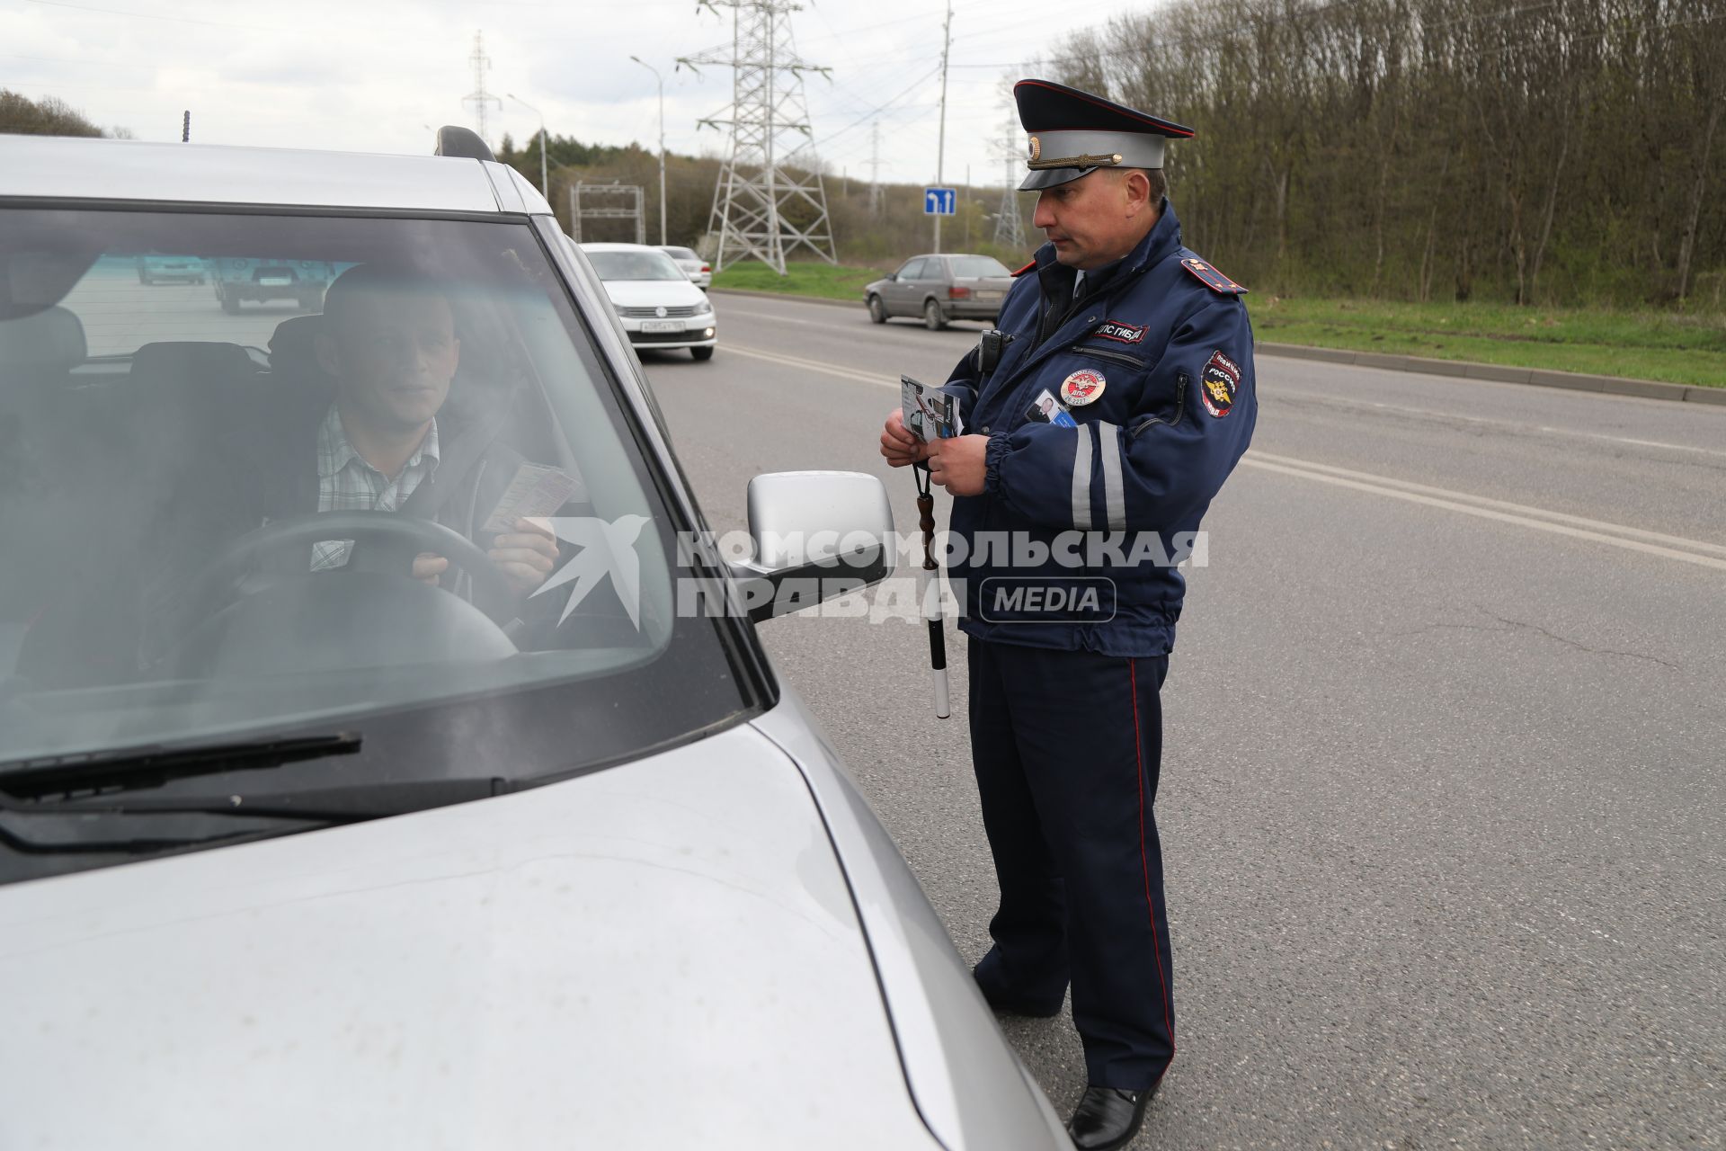
[(0, 197), (551, 214), (504, 164), (440, 155), (0, 136)]

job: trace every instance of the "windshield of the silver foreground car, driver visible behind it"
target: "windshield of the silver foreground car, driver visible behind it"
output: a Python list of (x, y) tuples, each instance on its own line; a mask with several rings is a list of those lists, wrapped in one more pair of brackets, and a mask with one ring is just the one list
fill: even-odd
[(552, 773), (739, 714), (552, 242), (0, 205), (0, 790), (337, 728), (395, 778)]

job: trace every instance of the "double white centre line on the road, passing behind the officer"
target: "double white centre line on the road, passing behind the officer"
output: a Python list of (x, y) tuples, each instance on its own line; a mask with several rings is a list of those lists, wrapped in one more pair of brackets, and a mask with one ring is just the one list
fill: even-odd
[[(861, 371), (851, 371), (849, 368), (839, 368), (837, 364), (827, 364), (816, 359), (780, 355), (777, 352), (763, 352), (759, 349), (739, 347), (735, 343), (727, 345), (727, 350), (737, 355), (749, 355), (772, 364), (782, 364), (785, 368), (801, 368), (804, 371), (818, 371), (841, 380), (873, 383), (880, 388), (899, 390), (898, 380), (882, 380), (880, 376), (870, 376)], [(1495, 500), (1484, 495), (1453, 492), (1450, 488), (1436, 488), (1426, 483), (1414, 483), (1412, 480), (1395, 480), (1391, 476), (1374, 475), (1370, 471), (1353, 471), (1350, 468), (1336, 468), (1332, 464), (1315, 464), (1312, 461), (1294, 459), (1293, 456), (1272, 456), (1270, 452), (1260, 452), (1258, 449), (1250, 450), (1244, 457), (1241, 457), (1241, 462), (1262, 471), (1276, 471), (1301, 480), (1317, 480), (1319, 483), (1353, 488), (1370, 495), (1384, 495), (1389, 499), (1408, 500), (1410, 504), (1460, 511), (1467, 516), (1496, 519), (1498, 523), (1512, 523), (1522, 528), (1534, 528), (1536, 531), (1550, 531), (1553, 535), (1567, 535), (1578, 540), (1609, 544), (1612, 547), (1622, 547), (1647, 556), (1662, 556), (1666, 559), (1679, 559), (1683, 563), (1726, 571), (1726, 545), (1721, 544), (1707, 544), (1704, 540), (1690, 540), (1679, 535), (1647, 531), (1643, 528), (1631, 528), (1621, 523), (1571, 516), (1560, 511), (1546, 511), (1545, 507), (1529, 507), (1528, 504)]]

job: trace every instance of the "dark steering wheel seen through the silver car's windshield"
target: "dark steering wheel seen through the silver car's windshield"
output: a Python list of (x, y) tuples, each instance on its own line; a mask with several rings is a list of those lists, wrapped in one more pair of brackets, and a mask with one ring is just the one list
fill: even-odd
[(509, 582), (476, 544), (432, 519), (394, 511), (324, 511), (266, 523), (228, 544), (205, 564), (193, 580), (186, 602), (197, 606), (200, 620), (207, 618), (231, 602), (235, 585), (261, 556), (309, 549), (319, 540), (354, 540), (347, 566), (333, 569), (337, 573), (371, 571), (411, 580), (414, 556), (437, 552), (473, 578), (476, 606), (494, 623), (504, 623), (513, 614), (514, 592)]

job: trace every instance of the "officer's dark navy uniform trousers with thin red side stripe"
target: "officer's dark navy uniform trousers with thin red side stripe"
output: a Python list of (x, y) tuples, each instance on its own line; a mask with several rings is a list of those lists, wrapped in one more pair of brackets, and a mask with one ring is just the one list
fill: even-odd
[(968, 640), (970, 735), (1001, 904), (984, 996), (1060, 1009), (1068, 980), (1089, 1082), (1143, 1091), (1174, 1058), (1156, 837), (1167, 656)]

